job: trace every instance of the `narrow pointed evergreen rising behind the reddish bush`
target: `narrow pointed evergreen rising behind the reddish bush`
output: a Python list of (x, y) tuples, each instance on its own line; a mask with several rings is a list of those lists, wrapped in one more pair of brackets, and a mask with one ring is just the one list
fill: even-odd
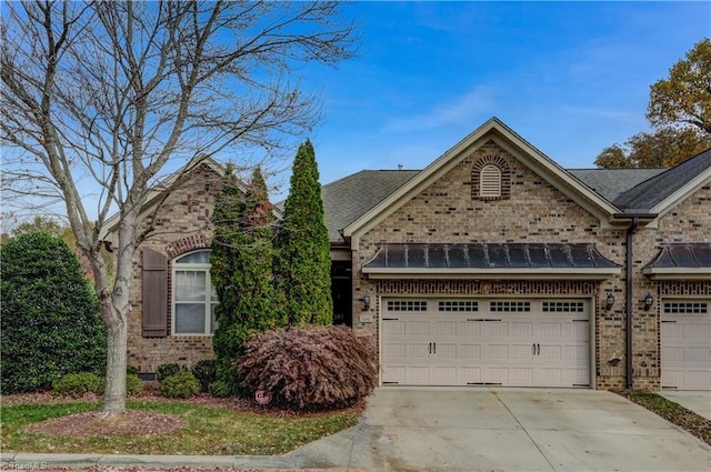
[(289, 323), (332, 324), (331, 255), (313, 145), (294, 159), (279, 238), (277, 277)]

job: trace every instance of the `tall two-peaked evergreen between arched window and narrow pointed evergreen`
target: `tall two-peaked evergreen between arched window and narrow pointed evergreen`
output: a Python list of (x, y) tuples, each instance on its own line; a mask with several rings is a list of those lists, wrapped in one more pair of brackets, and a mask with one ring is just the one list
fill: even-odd
[(228, 167), (213, 222), (210, 273), (219, 304), (212, 345), (218, 379), (238, 393), (237, 360), (247, 337), (286, 325), (274, 301), (273, 215), (259, 168), (242, 190)]

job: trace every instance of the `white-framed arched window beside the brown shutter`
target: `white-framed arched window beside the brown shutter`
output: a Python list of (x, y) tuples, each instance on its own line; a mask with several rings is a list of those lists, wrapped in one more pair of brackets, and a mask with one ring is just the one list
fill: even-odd
[(181, 255), (173, 261), (173, 334), (212, 334), (218, 295), (210, 280), (210, 251)]

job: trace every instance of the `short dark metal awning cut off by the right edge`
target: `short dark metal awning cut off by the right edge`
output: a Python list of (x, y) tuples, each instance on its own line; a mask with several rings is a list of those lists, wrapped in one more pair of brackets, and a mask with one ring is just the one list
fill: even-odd
[(711, 280), (711, 242), (663, 243), (642, 273), (652, 280)]

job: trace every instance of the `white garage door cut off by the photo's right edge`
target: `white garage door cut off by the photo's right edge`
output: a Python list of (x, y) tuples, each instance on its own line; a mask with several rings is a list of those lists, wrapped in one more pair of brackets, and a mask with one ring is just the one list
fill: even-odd
[(711, 301), (662, 303), (662, 389), (711, 390)]

